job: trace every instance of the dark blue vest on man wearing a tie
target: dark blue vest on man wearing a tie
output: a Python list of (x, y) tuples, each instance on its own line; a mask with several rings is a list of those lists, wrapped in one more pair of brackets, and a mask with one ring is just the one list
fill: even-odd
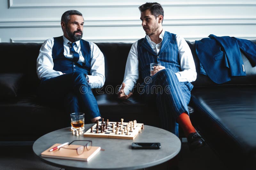
[(52, 47), (53, 70), (62, 73), (80, 71), (89, 75), (91, 71), (91, 48), (88, 41), (80, 40), (81, 52), (85, 63), (74, 62), (64, 56), (63, 37), (54, 37)]

